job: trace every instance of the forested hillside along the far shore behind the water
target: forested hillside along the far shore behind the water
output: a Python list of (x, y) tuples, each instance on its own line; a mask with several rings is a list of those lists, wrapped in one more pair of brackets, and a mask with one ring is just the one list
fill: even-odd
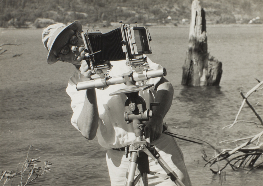
[[(44, 27), (52, 22), (109, 26), (123, 21), (187, 24), (192, 0), (3, 0), (0, 27)], [(207, 24), (262, 23), (263, 0), (201, 0)], [(45, 18), (45, 19), (38, 19)], [(255, 19), (256, 18), (256, 19)]]

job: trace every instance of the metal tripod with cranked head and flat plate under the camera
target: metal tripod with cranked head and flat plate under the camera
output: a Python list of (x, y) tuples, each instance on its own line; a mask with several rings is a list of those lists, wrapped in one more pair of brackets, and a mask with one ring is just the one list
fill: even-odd
[[(124, 118), (127, 124), (132, 122), (134, 134), (136, 136), (134, 142), (129, 147), (125, 148), (126, 157), (128, 157), (129, 153), (131, 159), (124, 185), (134, 186), (137, 184), (139, 179), (142, 178), (144, 186), (148, 186), (147, 174), (152, 174), (158, 177), (164, 177), (165, 179), (171, 179), (171, 181), (173, 181), (177, 186), (185, 186), (178, 178), (177, 174), (161, 158), (160, 154), (156, 151), (155, 146), (151, 145), (145, 139), (145, 124), (142, 122), (153, 117), (153, 106), (158, 106), (160, 103), (151, 103), (150, 109), (146, 109), (145, 100), (139, 96), (139, 91), (146, 90), (153, 85), (154, 84), (129, 86), (126, 89), (121, 89), (110, 94), (110, 96), (125, 94), (128, 97), (125, 102)], [(167, 174), (165, 175), (151, 172), (149, 168), (148, 156), (155, 161), (155, 164), (159, 164)], [(134, 179), (136, 168), (138, 168), (140, 173)]]

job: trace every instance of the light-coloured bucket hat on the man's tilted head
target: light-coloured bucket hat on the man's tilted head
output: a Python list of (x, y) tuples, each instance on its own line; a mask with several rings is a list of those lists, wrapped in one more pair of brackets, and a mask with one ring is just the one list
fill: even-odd
[(73, 30), (75, 33), (76, 32), (81, 32), (82, 30), (82, 25), (80, 22), (75, 21), (69, 25), (65, 25), (63, 23), (57, 23), (54, 25), (49, 25), (47, 28), (45, 28), (42, 32), (42, 42), (45, 46), (45, 48), (49, 51), (47, 55), (46, 61), (48, 64), (53, 64), (57, 62), (57, 57), (55, 54), (52, 52), (52, 46), (54, 42), (57, 39), (57, 36), (60, 35), (60, 33), (65, 30), (66, 28)]

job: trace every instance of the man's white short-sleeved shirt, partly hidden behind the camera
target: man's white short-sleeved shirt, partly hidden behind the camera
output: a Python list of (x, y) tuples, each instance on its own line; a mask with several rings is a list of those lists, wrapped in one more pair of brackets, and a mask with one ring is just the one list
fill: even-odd
[[(149, 58), (147, 62), (151, 69), (162, 68), (161, 65), (153, 63)], [(126, 66), (126, 60), (111, 62), (113, 65), (109, 76), (118, 76), (130, 72)], [(78, 128), (78, 117), (84, 106), (86, 90), (78, 91), (76, 83), (80, 82), (80, 71), (77, 69), (73, 76), (70, 77), (66, 92), (71, 98), (71, 108), (73, 115), (71, 123), (76, 129)], [(150, 103), (155, 102), (155, 85), (161, 77), (151, 78), (145, 84), (154, 84), (153, 87), (139, 92), (139, 96), (145, 99), (147, 109), (150, 109)], [(125, 88), (124, 83), (110, 85), (105, 90), (95, 89), (97, 95), (97, 104), (99, 111), (99, 127), (97, 129), (98, 142), (105, 148), (120, 148), (130, 145), (135, 140), (134, 128), (132, 123), (127, 124), (124, 120), (124, 103), (127, 99), (125, 94), (109, 96), (110, 93)]]

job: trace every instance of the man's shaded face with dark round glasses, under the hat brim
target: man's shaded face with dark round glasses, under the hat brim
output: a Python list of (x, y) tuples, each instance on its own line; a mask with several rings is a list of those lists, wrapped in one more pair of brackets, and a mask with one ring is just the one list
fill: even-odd
[(81, 34), (65, 29), (53, 44), (52, 51), (57, 60), (81, 65), (81, 55), (84, 55), (84, 42)]

